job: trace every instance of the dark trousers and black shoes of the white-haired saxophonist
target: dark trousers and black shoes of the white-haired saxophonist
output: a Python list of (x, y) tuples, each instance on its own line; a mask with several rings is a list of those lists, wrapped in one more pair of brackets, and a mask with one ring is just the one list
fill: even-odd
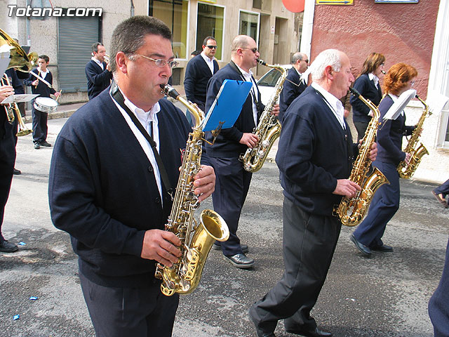
[(274, 331), (279, 319), (286, 330), (314, 329), (310, 310), (323, 287), (340, 235), (333, 216), (315, 216), (292, 201), (283, 201), (283, 263), (281, 281), (250, 312), (257, 324)]

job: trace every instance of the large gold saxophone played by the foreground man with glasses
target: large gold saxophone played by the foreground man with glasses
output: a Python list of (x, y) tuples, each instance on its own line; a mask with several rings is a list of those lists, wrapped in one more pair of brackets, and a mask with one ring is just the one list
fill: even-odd
[(173, 232), (180, 239), (182, 256), (171, 267), (156, 263), (154, 275), (162, 280), (162, 293), (172, 296), (174, 293), (192, 293), (196, 289), (212, 244), (215, 240), (226, 241), (229, 238), (229, 229), (225, 220), (210, 209), (201, 212), (200, 223), (194, 220), (194, 210), (199, 206), (198, 197), (194, 194), (194, 176), (201, 169), (203, 111), (182, 98), (172, 86), (161, 85), (161, 88), (163, 93), (185, 105), (195, 120), (182, 156), (175, 198), (165, 226), (165, 230)]

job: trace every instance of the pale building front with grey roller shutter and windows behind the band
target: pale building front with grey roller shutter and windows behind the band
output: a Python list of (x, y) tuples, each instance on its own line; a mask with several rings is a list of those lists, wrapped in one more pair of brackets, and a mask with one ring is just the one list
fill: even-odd
[[(27, 6), (52, 5), (53, 15), (44, 18), (24, 11)], [(298, 50), (302, 22), (302, 14), (287, 11), (276, 0), (4, 0), (0, 6), (1, 28), (20, 45), (30, 46), (30, 51), (50, 57), (54, 86), (63, 93), (60, 103), (87, 100), (84, 67), (91, 59), (91, 45), (101, 41), (108, 52), (114, 28), (132, 15), (152, 15), (172, 29), (173, 52), (180, 62), (172, 83), (180, 88), (190, 54), (201, 50), (205, 37), (217, 39), (220, 67), (229, 62), (231, 41), (238, 34), (253, 37), (266, 62), (288, 63)], [(62, 14), (55, 13), (57, 8), (62, 8)], [(258, 67), (258, 76), (267, 71)]]

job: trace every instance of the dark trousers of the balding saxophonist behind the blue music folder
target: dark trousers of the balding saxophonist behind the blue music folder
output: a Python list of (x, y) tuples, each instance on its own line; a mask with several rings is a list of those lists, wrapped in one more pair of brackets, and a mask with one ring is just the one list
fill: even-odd
[(215, 170), (215, 191), (212, 194), (213, 209), (227, 223), (229, 239), (221, 242), (224, 255), (243, 253), (237, 237), (241, 209), (250, 188), (253, 173), (243, 169), (238, 157), (210, 158)]

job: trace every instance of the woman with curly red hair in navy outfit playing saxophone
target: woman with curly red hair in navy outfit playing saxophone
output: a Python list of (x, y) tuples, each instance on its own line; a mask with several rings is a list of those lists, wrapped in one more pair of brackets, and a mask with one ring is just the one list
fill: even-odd
[(393, 251), (382, 242), (387, 223), (399, 209), (399, 174), (396, 168), (400, 161), (410, 160), (410, 154), (402, 151), (402, 138), (409, 136), (415, 126), (406, 126), (406, 114), (402, 111), (396, 119), (385, 119), (385, 114), (398, 100), (401, 93), (412, 88), (417, 77), (415, 67), (405, 63), (393, 65), (384, 78), (384, 99), (380, 102), (380, 126), (377, 129), (377, 158), (373, 166), (380, 169), (389, 180), (374, 194), (368, 216), (351, 234), (351, 241), (365, 256), (371, 251)]

